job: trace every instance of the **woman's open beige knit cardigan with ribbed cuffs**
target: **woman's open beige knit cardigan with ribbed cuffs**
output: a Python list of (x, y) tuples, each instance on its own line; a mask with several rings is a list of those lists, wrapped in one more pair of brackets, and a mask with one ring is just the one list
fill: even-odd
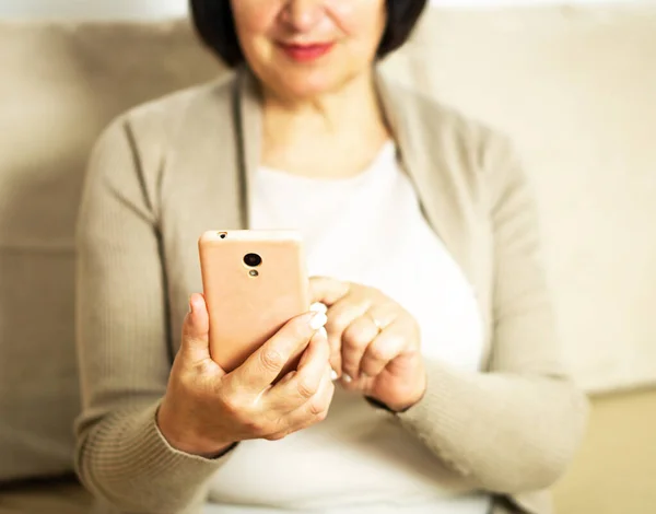
[[(429, 362), (425, 398), (397, 420), (464, 483), (494, 493), (495, 514), (549, 514), (544, 490), (579, 443), (587, 404), (559, 355), (525, 176), (504, 139), (378, 85), (426, 219), (487, 327), (487, 372)], [(155, 410), (188, 295), (202, 290), (198, 236), (248, 225), (260, 121), (256, 83), (239, 72), (126, 114), (93, 152), (78, 232), (77, 463), (118, 512), (198, 512), (224, 462), (174, 451)]]

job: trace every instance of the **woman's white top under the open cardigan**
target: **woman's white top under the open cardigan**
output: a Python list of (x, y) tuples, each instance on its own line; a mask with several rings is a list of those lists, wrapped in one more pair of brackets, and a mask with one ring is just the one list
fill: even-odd
[[(355, 177), (260, 168), (253, 191), (251, 229), (300, 231), (311, 276), (378, 288), (415, 316), (424, 355), (480, 369), (482, 317), (472, 288), (423, 218), (391, 142)], [(229, 514), (488, 513), (487, 494), (458, 490), (447, 477), (388, 413), (338, 387), (323, 423), (283, 441), (241, 444), (213, 480), (211, 499)]]

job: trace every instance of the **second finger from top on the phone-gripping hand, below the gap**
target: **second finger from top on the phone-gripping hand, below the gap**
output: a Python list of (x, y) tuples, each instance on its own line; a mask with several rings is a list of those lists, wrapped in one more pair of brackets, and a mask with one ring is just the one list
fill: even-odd
[(328, 341), (319, 330), (313, 336), (293, 377), (273, 386), (265, 401), (282, 412), (291, 412), (305, 404), (319, 390), (329, 357)]

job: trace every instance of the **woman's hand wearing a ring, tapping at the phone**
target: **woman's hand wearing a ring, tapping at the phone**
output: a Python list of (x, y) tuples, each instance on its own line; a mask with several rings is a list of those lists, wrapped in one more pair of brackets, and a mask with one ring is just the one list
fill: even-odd
[(330, 363), (344, 388), (395, 412), (421, 400), (426, 372), (408, 311), (377, 289), (324, 277), (311, 279), (311, 294), (328, 307)]

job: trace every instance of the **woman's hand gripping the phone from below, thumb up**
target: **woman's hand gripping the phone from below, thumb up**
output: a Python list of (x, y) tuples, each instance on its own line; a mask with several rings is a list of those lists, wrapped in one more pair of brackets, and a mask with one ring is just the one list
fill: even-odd
[[(157, 411), (162, 435), (176, 449), (221, 455), (241, 441), (277, 441), (324, 420), (335, 393), (324, 313), (293, 318), (231, 373), (210, 357), (209, 315), (194, 294), (183, 341)], [(309, 343), (308, 343), (309, 341)], [(297, 371), (271, 385), (300, 347)]]

